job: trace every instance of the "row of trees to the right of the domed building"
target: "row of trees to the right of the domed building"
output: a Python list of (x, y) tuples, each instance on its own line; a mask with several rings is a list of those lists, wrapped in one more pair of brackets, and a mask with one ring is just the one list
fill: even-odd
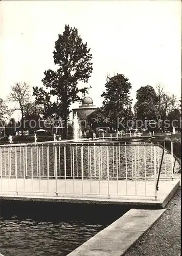
[(111, 130), (148, 129), (172, 131), (181, 129), (181, 99), (164, 91), (162, 84), (142, 86), (136, 91), (132, 109), (131, 83), (123, 74), (108, 77), (102, 93), (101, 108), (89, 115), (90, 125)]

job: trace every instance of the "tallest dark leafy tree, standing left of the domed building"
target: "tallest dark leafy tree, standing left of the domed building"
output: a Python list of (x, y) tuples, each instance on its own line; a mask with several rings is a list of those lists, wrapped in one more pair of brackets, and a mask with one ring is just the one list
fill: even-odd
[[(48, 102), (48, 110), (51, 115), (56, 114), (63, 118), (64, 126), (70, 114), (70, 105), (81, 100), (81, 96), (87, 93), (88, 87), (79, 89), (78, 81), (88, 82), (92, 74), (92, 54), (89, 53), (87, 43), (83, 43), (78, 30), (65, 25), (63, 34), (59, 34), (55, 42), (53, 52), (54, 63), (58, 65), (57, 71), (44, 72), (42, 79), (43, 88), (33, 88), (37, 102)], [(80, 95), (81, 94), (81, 95)], [(51, 96), (56, 100), (51, 103)]]

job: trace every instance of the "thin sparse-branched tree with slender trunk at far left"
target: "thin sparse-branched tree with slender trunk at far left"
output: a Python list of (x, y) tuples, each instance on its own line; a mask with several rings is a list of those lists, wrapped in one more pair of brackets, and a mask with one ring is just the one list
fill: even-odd
[(27, 103), (30, 101), (30, 87), (26, 82), (15, 83), (11, 87), (11, 93), (7, 97), (9, 101), (18, 103), (19, 110), (21, 111), (21, 135), (24, 133), (24, 111)]

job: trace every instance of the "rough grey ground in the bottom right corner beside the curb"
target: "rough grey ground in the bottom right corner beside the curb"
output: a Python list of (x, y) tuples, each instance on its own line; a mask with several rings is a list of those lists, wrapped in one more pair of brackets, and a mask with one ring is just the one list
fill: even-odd
[(125, 256), (180, 256), (181, 187), (162, 217), (135, 243)]

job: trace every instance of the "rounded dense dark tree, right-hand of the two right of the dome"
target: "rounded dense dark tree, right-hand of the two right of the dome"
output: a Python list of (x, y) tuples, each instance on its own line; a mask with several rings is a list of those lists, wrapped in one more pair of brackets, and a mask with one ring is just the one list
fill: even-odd
[(137, 91), (137, 102), (134, 105), (135, 115), (137, 119), (142, 121), (156, 120), (157, 111), (157, 95), (151, 86), (143, 86)]

